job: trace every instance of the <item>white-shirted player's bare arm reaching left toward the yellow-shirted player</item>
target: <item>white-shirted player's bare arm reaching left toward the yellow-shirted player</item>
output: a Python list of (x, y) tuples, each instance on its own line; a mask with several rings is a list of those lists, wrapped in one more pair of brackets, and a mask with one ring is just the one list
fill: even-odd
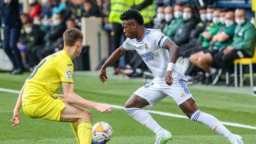
[(120, 46), (118, 49), (116, 49), (111, 56), (108, 58), (108, 60), (103, 64), (103, 66), (100, 69), (99, 77), (100, 80), (105, 83), (106, 80), (108, 80), (108, 77), (106, 76), (106, 68), (110, 66), (112, 63), (114, 63), (116, 60), (121, 58), (126, 50), (122, 46)]

